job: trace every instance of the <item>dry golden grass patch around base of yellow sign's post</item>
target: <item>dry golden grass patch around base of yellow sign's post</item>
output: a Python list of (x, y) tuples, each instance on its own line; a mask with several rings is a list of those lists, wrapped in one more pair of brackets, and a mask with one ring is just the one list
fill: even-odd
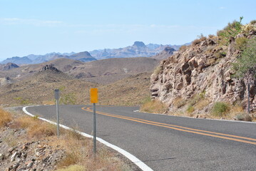
[[(93, 142), (76, 133), (61, 135), (54, 141), (66, 150), (66, 157), (58, 163), (58, 171), (61, 170), (129, 170), (128, 165), (121, 162), (113, 152), (97, 144), (97, 154), (93, 155)], [(126, 169), (124, 169), (126, 168)]]

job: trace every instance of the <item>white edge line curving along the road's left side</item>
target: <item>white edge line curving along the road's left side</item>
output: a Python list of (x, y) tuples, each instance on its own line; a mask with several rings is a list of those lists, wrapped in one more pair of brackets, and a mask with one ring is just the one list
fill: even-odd
[[(24, 113), (26, 113), (27, 115), (30, 115), (31, 117), (35, 117), (35, 115), (29, 113), (26, 108), (29, 108), (29, 107), (34, 107), (35, 105), (31, 105), (31, 106), (25, 106), (22, 108), (22, 110), (24, 111)], [(36, 106), (39, 106), (39, 105), (36, 105)], [(57, 125), (57, 123), (51, 121), (51, 120), (46, 120), (45, 118), (40, 118), (39, 119), (43, 120), (43, 121), (46, 121), (47, 123), (51, 123), (53, 125)], [(83, 133), (81, 131), (78, 131), (78, 130), (73, 130), (72, 128), (69, 128), (65, 125), (62, 125), (60, 124), (60, 127), (61, 128), (64, 128), (66, 130), (71, 130), (71, 131), (75, 131), (76, 133), (80, 134), (80, 135), (83, 135), (84, 137), (87, 137), (87, 138), (93, 138), (92, 135), (88, 135), (87, 133)], [(103, 140), (101, 138), (96, 138), (96, 140), (98, 140), (99, 142), (103, 143), (103, 145), (106, 145), (108, 147), (111, 147), (113, 150), (116, 150), (117, 152), (120, 152), (122, 155), (124, 155), (125, 157), (127, 157), (131, 162), (133, 162), (135, 165), (137, 165), (138, 167), (140, 167), (141, 170), (143, 171), (153, 171), (150, 167), (148, 167), (148, 165), (145, 165), (144, 162), (140, 161), (137, 157), (135, 157), (134, 155), (130, 154), (130, 152), (127, 152), (126, 150), (123, 150), (121, 147), (118, 147), (116, 145), (113, 145), (109, 142), (107, 142), (106, 140)]]

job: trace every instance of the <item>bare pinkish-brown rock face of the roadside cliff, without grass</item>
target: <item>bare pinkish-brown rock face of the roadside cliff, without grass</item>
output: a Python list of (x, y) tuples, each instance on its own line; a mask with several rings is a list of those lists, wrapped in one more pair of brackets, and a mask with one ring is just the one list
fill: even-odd
[[(235, 49), (235, 39), (230, 40), (227, 48), (220, 48), (217, 42), (217, 36), (208, 38), (162, 61), (159, 74), (151, 76), (152, 98), (158, 98), (168, 104), (170, 110), (176, 110), (173, 105), (176, 98), (189, 100), (202, 92), (213, 103), (241, 101), (241, 104), (246, 104), (246, 79), (235, 79), (231, 76), (231, 63), (234, 63), (240, 55), (240, 51)], [(216, 58), (216, 54), (222, 51), (226, 52), (226, 56)], [(251, 106), (256, 106), (256, 81), (253, 76), (250, 88), (250, 103)], [(213, 106), (213, 103), (210, 105)], [(202, 111), (209, 113), (212, 107), (210, 105), (205, 106)]]

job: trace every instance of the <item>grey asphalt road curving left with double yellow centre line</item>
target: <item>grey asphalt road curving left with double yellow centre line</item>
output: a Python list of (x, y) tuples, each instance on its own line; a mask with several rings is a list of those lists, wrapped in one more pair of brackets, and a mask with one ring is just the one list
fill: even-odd
[[(27, 108), (56, 120), (55, 106)], [(96, 106), (97, 137), (153, 170), (256, 170), (256, 124), (135, 113), (138, 107)], [(63, 125), (93, 133), (91, 106), (61, 105)]]

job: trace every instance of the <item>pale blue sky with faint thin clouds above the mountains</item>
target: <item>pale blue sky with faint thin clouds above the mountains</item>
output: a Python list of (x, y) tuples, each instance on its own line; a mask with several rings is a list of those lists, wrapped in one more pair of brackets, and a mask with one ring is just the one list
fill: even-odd
[(256, 1), (0, 0), (0, 60), (50, 52), (121, 48), (134, 41), (183, 44), (215, 34)]

